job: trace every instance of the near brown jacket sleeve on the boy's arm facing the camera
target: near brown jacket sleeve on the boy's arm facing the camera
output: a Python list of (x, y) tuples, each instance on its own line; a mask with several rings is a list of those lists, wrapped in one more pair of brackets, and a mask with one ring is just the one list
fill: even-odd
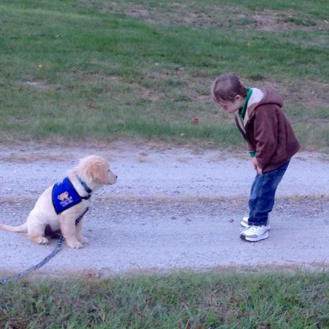
[(256, 158), (259, 166), (264, 169), (277, 149), (278, 117), (270, 104), (255, 109), (254, 139), (256, 141)]

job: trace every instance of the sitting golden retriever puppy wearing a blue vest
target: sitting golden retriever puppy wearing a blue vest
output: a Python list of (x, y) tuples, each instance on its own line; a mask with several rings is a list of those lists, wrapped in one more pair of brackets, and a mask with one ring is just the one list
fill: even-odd
[(60, 231), (71, 248), (81, 248), (88, 240), (81, 235), (82, 220), (76, 220), (89, 206), (89, 197), (103, 185), (115, 184), (117, 176), (105, 159), (89, 155), (67, 172), (61, 182), (45, 190), (36, 200), (27, 220), (20, 226), (0, 224), (0, 229), (26, 232), (38, 244), (48, 243), (46, 234)]

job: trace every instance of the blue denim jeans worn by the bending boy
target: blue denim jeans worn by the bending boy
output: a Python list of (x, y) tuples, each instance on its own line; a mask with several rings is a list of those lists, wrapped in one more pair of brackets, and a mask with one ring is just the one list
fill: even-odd
[(263, 172), (263, 175), (256, 175), (250, 191), (249, 224), (266, 225), (268, 213), (274, 205), (277, 187), (289, 165), (289, 161), (283, 163), (277, 169)]

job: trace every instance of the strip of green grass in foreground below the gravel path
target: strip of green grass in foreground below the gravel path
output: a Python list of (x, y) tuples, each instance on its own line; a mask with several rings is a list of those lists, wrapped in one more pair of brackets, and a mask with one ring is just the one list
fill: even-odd
[(2, 328), (327, 328), (329, 273), (205, 272), (0, 286)]

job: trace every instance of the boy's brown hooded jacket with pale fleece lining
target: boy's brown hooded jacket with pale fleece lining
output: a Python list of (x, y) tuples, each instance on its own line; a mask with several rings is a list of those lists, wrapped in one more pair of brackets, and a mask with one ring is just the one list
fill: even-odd
[(244, 119), (235, 113), (235, 122), (254, 151), (263, 171), (280, 167), (300, 148), (293, 128), (282, 111), (283, 101), (267, 89), (252, 88)]

